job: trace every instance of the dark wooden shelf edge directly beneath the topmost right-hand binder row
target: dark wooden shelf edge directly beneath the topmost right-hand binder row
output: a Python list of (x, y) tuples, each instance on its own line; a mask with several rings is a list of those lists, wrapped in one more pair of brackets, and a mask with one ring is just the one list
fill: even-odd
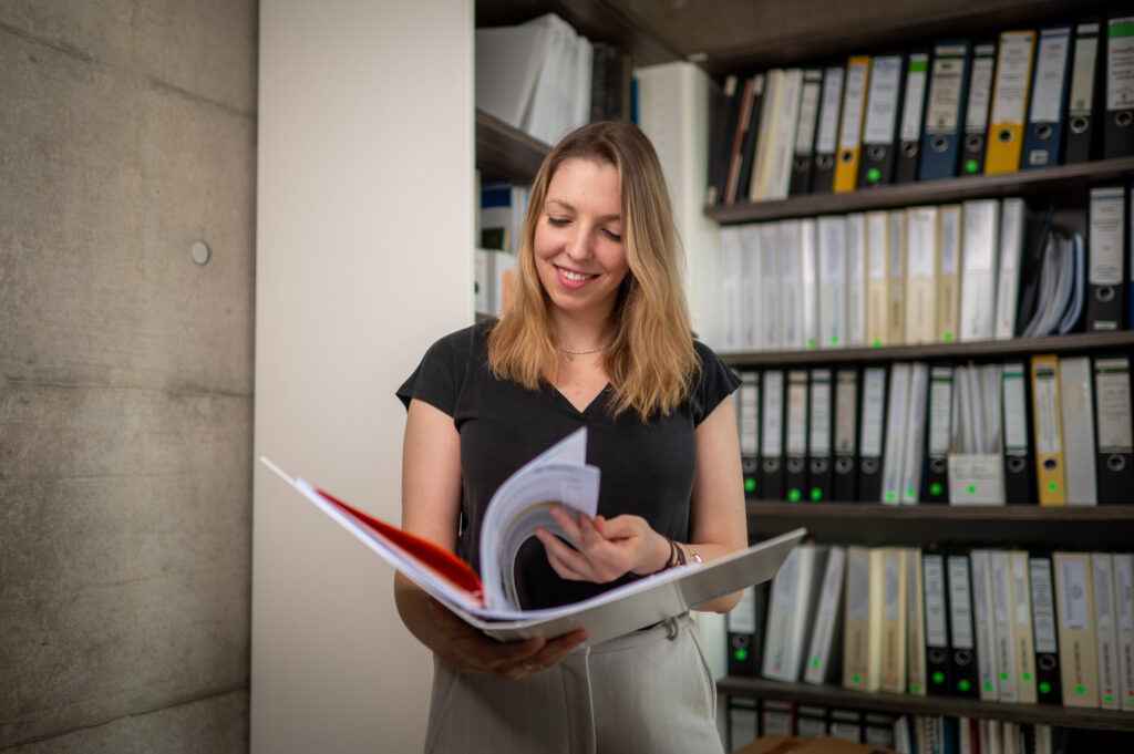
[(704, 207), (722, 224), (760, 222), (818, 214), (843, 214), (919, 204), (948, 204), (968, 198), (992, 198), (1043, 192), (1067, 193), (1134, 173), (1134, 158), (1093, 160), (1051, 168), (1017, 170), (991, 176), (965, 176), (913, 184), (863, 188), (841, 194), (807, 194), (775, 202), (738, 202)]

